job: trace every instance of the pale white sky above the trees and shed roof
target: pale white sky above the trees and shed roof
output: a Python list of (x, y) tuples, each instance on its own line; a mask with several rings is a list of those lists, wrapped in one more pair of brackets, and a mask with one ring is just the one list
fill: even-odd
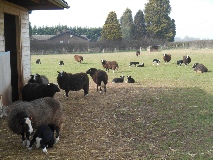
[[(66, 0), (70, 8), (65, 10), (33, 11), (32, 26), (103, 27), (111, 11), (117, 18), (126, 8), (134, 18), (137, 11), (144, 11), (148, 0)], [(213, 39), (213, 0), (170, 0), (170, 17), (175, 20), (176, 37)]]

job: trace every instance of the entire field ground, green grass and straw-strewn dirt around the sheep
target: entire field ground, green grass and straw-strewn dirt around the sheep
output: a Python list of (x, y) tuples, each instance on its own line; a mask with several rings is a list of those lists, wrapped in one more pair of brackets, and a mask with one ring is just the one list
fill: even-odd
[[(171, 54), (168, 64), (163, 54)], [(56, 93), (64, 110), (60, 140), (48, 154), (35, 147), (28, 151), (21, 135), (13, 134), (7, 119), (0, 119), (0, 159), (212, 159), (213, 158), (213, 50), (165, 50), (80, 54), (32, 55), (32, 74), (39, 73), (57, 83), (57, 71), (86, 72), (104, 68), (101, 59), (116, 60), (109, 71), (106, 94), (96, 92), (90, 79), (89, 95), (83, 90)], [(189, 55), (192, 62), (179, 66)], [(41, 64), (36, 64), (37, 59)], [(160, 59), (153, 65), (153, 59)], [(59, 65), (63, 60), (64, 65)], [(144, 67), (129, 67), (129, 62)], [(203, 63), (206, 73), (195, 73), (192, 65)], [(132, 76), (135, 83), (111, 83), (113, 78)]]

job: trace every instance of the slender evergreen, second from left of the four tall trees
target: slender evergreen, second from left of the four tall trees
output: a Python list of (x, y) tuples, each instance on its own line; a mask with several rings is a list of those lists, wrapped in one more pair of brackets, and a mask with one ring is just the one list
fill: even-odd
[(127, 8), (120, 19), (121, 32), (124, 40), (130, 41), (133, 39), (134, 24), (132, 19), (132, 11)]

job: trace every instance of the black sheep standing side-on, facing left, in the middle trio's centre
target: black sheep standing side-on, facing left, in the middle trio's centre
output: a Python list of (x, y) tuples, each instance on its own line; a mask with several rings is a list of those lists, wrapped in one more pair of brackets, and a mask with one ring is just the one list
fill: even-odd
[(86, 73), (66, 73), (64, 71), (58, 72), (57, 82), (61, 89), (65, 90), (66, 97), (68, 98), (69, 91), (84, 90), (84, 95), (89, 92), (89, 77)]

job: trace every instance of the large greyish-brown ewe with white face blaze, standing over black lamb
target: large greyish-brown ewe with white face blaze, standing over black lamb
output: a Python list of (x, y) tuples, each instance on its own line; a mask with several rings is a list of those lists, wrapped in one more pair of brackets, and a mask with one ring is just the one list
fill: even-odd
[[(51, 125), (56, 130), (56, 142), (63, 123), (61, 103), (51, 97), (36, 99), (30, 102), (14, 102), (8, 115), (8, 127), (15, 134), (22, 135), (23, 145), (29, 146), (29, 136), (33, 129), (41, 125)], [(25, 134), (27, 140), (25, 141)]]

